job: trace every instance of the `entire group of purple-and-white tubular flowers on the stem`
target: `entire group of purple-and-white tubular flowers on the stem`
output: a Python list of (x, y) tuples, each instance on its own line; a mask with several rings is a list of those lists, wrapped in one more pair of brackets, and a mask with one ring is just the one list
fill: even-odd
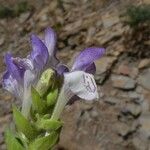
[(52, 118), (58, 119), (61, 109), (74, 95), (86, 100), (98, 98), (97, 86), (92, 74), (94, 61), (105, 52), (104, 48), (91, 47), (83, 50), (75, 59), (71, 71), (56, 58), (56, 34), (48, 28), (44, 39), (31, 36), (32, 52), (27, 58), (13, 58), (5, 55), (7, 70), (3, 75), (3, 87), (21, 99), (22, 113), (28, 116), (31, 107), (31, 86), (37, 85), (41, 74), (52, 68), (64, 76), (64, 83), (58, 97)]

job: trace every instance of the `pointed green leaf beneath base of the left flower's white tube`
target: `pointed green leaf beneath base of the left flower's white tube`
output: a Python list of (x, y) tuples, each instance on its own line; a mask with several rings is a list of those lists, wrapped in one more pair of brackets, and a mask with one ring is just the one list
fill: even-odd
[(30, 124), (30, 122), (15, 106), (13, 107), (13, 117), (17, 129), (22, 132), (28, 139), (31, 140), (37, 136), (37, 130)]

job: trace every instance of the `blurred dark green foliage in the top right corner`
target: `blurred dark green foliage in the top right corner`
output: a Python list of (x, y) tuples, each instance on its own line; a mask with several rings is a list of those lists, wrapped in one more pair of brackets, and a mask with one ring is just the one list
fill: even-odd
[(127, 8), (127, 23), (132, 26), (138, 26), (141, 23), (150, 23), (150, 5), (131, 5)]

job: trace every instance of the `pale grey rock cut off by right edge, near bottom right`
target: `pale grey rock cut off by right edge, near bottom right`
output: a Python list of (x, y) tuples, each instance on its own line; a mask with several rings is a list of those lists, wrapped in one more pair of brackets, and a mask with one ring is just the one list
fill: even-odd
[(140, 134), (146, 138), (150, 138), (150, 112), (147, 112), (139, 118)]

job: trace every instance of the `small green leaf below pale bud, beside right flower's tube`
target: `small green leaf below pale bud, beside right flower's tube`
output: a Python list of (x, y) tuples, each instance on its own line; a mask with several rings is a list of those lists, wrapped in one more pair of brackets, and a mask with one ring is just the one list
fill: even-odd
[(47, 95), (47, 105), (52, 106), (56, 103), (58, 96), (58, 88), (55, 88)]

